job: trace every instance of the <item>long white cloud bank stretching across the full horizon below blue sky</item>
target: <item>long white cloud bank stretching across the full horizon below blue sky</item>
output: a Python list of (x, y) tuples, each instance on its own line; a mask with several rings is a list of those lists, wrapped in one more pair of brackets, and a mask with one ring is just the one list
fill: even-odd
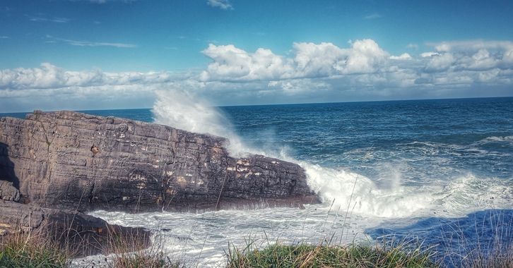
[(195, 92), (216, 105), (513, 95), (512, 42), (428, 46), (420, 54), (396, 56), (372, 39), (346, 47), (297, 42), (290, 54), (280, 55), (267, 48), (209, 44), (202, 53), (211, 62), (189, 73), (69, 71), (42, 63), (0, 70), (0, 107), (148, 107), (157, 90)]

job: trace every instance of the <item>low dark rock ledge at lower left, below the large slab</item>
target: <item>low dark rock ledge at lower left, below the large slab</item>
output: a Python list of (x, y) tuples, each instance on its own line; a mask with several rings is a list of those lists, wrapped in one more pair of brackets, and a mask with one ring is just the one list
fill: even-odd
[(35, 205), (0, 200), (0, 237), (18, 232), (36, 232), (44, 239), (66, 245), (75, 257), (109, 253), (119, 238), (136, 241), (140, 248), (150, 244), (150, 232), (142, 228), (107, 224), (102, 219), (66, 209), (46, 209)]

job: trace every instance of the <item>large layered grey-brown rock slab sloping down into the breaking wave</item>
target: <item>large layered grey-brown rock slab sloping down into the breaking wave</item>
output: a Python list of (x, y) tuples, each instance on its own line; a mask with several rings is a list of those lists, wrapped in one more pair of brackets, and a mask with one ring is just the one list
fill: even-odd
[(0, 178), (25, 203), (83, 212), (319, 202), (297, 164), (236, 159), (227, 142), (153, 123), (35, 111), (0, 118)]

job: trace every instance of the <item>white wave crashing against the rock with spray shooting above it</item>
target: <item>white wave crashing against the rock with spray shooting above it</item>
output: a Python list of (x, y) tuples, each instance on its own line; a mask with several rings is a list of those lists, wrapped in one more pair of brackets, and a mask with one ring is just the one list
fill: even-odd
[[(444, 181), (403, 185), (400, 169), (390, 167), (388, 172), (380, 174), (382, 178), (377, 183), (376, 179), (351, 172), (347, 168), (327, 168), (297, 161), (288, 156), (286, 147), (263, 151), (247, 146), (220, 110), (187, 92), (158, 92), (157, 97), (153, 106), (156, 123), (224, 136), (230, 139), (228, 149), (235, 155), (252, 152), (296, 162), (305, 169), (309, 186), (324, 202), (332, 203), (334, 209), (340, 212), (382, 218), (413, 217), (438, 212), (450, 217), (485, 207), (512, 207), (511, 180), (478, 178), (469, 173), (459, 178), (444, 178)], [(509, 142), (513, 136), (488, 137), (484, 140)], [(432, 147), (442, 150), (448, 146), (437, 142), (411, 142), (405, 145), (420, 145), (430, 150)], [(461, 145), (453, 146), (459, 150), (469, 149)]]

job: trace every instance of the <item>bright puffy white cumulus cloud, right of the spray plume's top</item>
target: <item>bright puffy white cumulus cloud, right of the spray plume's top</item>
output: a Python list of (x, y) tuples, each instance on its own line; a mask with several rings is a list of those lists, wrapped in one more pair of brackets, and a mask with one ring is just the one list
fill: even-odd
[(200, 75), (208, 80), (281, 80), (373, 73), (389, 54), (372, 39), (356, 40), (349, 49), (332, 43), (294, 43), (294, 56), (285, 58), (270, 49), (253, 53), (232, 44), (209, 44), (203, 53), (212, 59)]

